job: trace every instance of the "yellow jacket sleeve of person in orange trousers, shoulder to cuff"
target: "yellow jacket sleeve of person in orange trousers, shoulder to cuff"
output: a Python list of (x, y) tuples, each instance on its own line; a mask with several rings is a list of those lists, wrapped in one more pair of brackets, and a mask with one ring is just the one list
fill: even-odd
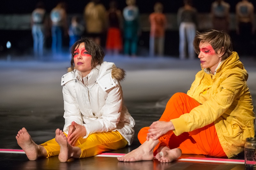
[[(214, 122), (239, 97), (245, 81), (241, 73), (233, 72), (231, 75), (220, 77), (220, 79), (219, 84), (214, 85), (217, 89), (209, 100), (192, 109), (190, 113), (171, 120), (175, 128), (173, 130), (175, 135), (178, 136), (183, 132), (190, 132)], [(214, 86), (212, 88), (215, 88)]]

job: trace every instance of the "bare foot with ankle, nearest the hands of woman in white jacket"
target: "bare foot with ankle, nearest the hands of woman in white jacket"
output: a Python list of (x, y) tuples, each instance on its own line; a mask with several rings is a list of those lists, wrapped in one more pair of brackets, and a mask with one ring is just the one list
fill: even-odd
[(60, 145), (60, 162), (67, 162), (70, 158), (80, 158), (82, 153), (81, 149), (68, 144), (68, 139), (62, 130), (56, 129), (55, 134), (55, 140)]

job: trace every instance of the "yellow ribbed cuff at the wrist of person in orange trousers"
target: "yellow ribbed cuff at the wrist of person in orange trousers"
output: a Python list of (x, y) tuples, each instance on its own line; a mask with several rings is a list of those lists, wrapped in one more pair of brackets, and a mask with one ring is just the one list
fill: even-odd
[(184, 120), (184, 118), (179, 117), (179, 118), (176, 118), (176, 119), (172, 119), (171, 122), (174, 126), (174, 129), (175, 129), (175, 130), (173, 130), (173, 133), (176, 136), (179, 136), (183, 132), (188, 132), (187, 122)]

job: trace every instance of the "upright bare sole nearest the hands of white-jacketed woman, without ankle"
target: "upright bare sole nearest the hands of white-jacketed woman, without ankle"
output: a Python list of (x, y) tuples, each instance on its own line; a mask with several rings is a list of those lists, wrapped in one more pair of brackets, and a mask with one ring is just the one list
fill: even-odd
[(55, 134), (55, 140), (60, 145), (59, 160), (60, 162), (67, 162), (71, 158), (72, 146), (68, 144), (68, 139), (62, 130), (56, 129)]

